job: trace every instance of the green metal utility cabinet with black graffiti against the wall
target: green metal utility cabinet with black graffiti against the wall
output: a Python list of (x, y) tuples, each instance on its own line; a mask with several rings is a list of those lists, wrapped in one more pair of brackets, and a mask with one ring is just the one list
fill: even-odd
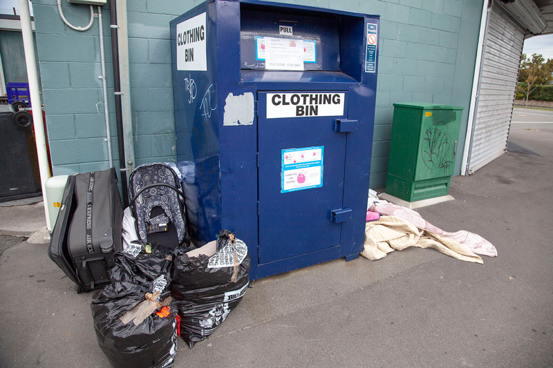
[(386, 193), (408, 202), (449, 193), (463, 108), (393, 104)]

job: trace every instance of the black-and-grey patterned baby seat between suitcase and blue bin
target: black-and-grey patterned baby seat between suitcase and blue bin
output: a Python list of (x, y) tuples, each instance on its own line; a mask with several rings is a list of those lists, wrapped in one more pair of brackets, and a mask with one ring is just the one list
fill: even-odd
[(144, 164), (135, 168), (129, 180), (131, 200), (145, 186), (160, 183), (168, 184), (173, 188), (153, 186), (140, 193), (138, 198), (131, 202), (138, 236), (142, 242), (149, 242), (149, 234), (167, 231), (169, 224), (173, 224), (178, 244), (162, 245), (180, 246), (188, 242), (188, 233), (182, 207), (184, 198), (181, 199), (178, 192), (180, 191), (180, 181), (171, 167), (158, 163)]

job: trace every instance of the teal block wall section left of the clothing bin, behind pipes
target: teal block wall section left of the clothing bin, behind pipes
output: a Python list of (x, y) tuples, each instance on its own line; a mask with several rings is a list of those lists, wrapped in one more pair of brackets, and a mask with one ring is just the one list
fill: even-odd
[[(169, 21), (200, 3), (196, 0), (127, 1), (131, 116), (135, 164), (175, 161)], [(59, 17), (56, 0), (32, 1), (37, 50), (53, 161), (53, 175), (109, 167), (97, 17), (90, 30), (77, 32)], [(62, 1), (74, 26), (90, 19), (88, 6)], [(97, 7), (94, 7), (97, 12)], [(113, 102), (109, 6), (102, 7), (106, 80), (114, 164), (118, 144)]]

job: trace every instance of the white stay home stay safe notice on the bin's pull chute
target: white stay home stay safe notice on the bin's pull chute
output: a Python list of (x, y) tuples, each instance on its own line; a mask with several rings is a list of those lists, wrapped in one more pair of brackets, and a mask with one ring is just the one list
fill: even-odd
[(303, 41), (265, 37), (266, 70), (303, 70)]

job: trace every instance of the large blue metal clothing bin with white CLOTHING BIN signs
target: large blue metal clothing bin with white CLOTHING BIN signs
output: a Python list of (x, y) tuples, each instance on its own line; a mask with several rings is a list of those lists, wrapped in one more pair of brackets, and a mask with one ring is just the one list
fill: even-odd
[(170, 23), (191, 238), (243, 239), (250, 278), (364, 242), (379, 17), (207, 1)]

